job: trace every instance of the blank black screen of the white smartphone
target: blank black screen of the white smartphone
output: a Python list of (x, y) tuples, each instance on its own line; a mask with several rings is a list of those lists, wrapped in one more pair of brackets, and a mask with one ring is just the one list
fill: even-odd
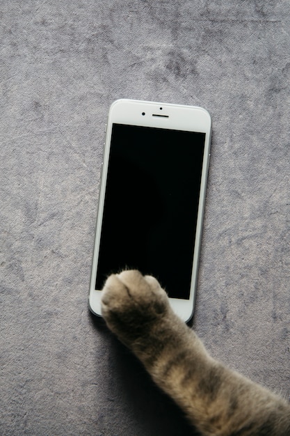
[(204, 133), (113, 124), (96, 289), (137, 269), (188, 299)]

